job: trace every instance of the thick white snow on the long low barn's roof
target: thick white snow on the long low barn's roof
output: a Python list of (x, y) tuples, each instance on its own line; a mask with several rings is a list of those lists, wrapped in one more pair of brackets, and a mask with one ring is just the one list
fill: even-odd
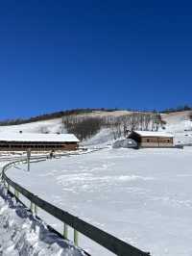
[(73, 134), (0, 133), (0, 141), (79, 142)]

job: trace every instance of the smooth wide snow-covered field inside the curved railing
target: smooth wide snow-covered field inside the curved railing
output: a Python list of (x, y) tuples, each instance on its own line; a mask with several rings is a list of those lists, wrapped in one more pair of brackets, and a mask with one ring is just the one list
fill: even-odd
[[(192, 255), (192, 149), (104, 149), (12, 168), (40, 197), (153, 256)], [(56, 219), (40, 215), (60, 232)], [(99, 245), (80, 245), (110, 255)]]

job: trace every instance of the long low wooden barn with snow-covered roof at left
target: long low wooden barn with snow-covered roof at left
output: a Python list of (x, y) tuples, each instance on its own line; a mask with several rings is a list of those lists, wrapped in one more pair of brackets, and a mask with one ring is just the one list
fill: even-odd
[(79, 140), (73, 134), (0, 133), (0, 151), (77, 150)]

